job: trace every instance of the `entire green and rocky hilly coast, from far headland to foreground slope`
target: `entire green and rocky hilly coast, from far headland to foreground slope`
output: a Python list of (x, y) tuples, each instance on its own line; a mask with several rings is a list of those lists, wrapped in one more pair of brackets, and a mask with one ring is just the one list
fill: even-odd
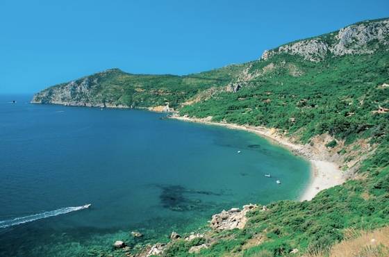
[[(350, 229), (389, 224), (389, 19), (352, 24), (270, 49), (249, 63), (199, 74), (110, 69), (54, 85), (32, 102), (168, 106), (188, 119), (273, 128), (292, 142), (325, 149), (322, 158), (351, 174), (311, 201), (253, 208), (243, 229), (173, 240), (160, 247), (165, 256), (326, 254), (349, 239)], [(383, 252), (384, 246), (374, 247)]]

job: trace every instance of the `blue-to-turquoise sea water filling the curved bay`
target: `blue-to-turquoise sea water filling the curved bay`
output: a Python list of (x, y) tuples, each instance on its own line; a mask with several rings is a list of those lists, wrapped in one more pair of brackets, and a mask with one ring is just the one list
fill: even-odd
[(0, 96), (0, 256), (163, 240), (222, 209), (297, 199), (309, 180), (305, 160), (245, 131), (29, 99)]

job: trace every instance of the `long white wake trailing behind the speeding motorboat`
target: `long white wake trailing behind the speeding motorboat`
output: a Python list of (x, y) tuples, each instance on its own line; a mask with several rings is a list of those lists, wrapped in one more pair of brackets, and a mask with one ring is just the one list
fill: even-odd
[(19, 224), (24, 224), (27, 222), (33, 222), (38, 219), (45, 219), (47, 217), (53, 217), (57, 215), (63, 215), (66, 213), (71, 213), (76, 210), (83, 210), (86, 208), (89, 208), (90, 204), (86, 204), (83, 206), (76, 206), (76, 207), (65, 207), (65, 208), (60, 208), (58, 210), (51, 210), (47, 211), (44, 213), (38, 213), (38, 214), (33, 214), (33, 215), (28, 215), (25, 217), (15, 217), (15, 219), (7, 219), (0, 221), (0, 229), (7, 228), (8, 226), (16, 226)]

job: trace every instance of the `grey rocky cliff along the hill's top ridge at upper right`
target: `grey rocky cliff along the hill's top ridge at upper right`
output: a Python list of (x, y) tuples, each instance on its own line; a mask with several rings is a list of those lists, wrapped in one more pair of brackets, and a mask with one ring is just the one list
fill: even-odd
[(389, 44), (389, 19), (361, 22), (340, 31), (317, 38), (285, 44), (263, 52), (261, 59), (268, 60), (279, 53), (299, 55), (305, 60), (320, 62), (326, 56), (374, 53), (381, 45)]

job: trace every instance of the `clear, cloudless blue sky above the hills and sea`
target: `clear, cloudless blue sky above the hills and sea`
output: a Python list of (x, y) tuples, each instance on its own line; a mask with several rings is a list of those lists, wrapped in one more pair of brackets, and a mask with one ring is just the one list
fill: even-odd
[(0, 93), (36, 92), (119, 67), (189, 74), (389, 17), (388, 0), (0, 1)]

